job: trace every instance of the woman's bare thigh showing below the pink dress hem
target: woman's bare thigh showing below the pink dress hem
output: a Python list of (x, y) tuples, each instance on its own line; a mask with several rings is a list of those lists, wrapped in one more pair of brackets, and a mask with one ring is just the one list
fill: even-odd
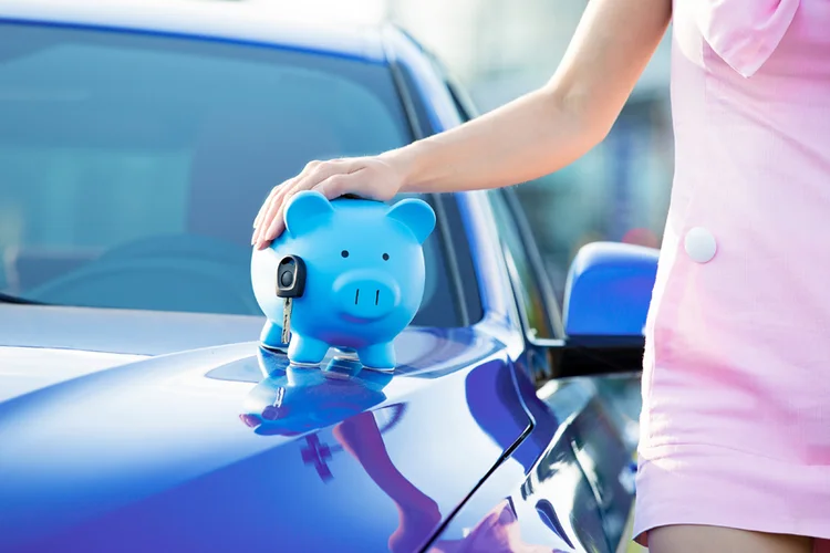
[(649, 553), (812, 553), (812, 540), (703, 525), (649, 531)]

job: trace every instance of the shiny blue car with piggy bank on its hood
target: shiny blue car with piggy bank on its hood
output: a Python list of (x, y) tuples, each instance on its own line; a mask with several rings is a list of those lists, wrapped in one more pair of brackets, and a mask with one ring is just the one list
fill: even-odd
[(271, 187), (475, 116), (393, 27), (0, 0), (0, 551), (624, 547), (655, 251), (560, 305), (515, 190), (421, 196), (394, 373), (258, 343)]

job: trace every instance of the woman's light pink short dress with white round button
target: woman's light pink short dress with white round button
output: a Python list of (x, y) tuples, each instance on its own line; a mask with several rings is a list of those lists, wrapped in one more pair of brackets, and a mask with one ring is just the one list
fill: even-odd
[(674, 0), (672, 106), (635, 536), (830, 540), (830, 0)]

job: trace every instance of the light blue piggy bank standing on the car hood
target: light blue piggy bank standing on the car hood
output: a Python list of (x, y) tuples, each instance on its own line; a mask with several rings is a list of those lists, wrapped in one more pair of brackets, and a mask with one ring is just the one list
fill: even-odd
[(260, 340), (284, 347), (286, 301), (278, 296), (280, 262), (304, 265), (302, 295), (292, 299), (288, 357), (317, 365), (330, 347), (353, 349), (366, 368), (395, 368), (394, 338), (412, 322), (424, 296), (422, 244), (435, 228), (423, 200), (338, 198), (307, 190), (291, 198), (286, 231), (251, 257), (251, 283), (268, 317)]

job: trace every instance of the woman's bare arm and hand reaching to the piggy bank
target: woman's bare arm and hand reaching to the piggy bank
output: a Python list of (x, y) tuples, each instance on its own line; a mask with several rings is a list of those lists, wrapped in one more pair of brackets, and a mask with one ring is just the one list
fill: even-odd
[(398, 191), (510, 186), (569, 165), (606, 136), (671, 14), (672, 0), (590, 0), (544, 86), (378, 156), (310, 163), (271, 191), (255, 221), (252, 241), (264, 248), (284, 230), (283, 205), (300, 190), (387, 200)]

